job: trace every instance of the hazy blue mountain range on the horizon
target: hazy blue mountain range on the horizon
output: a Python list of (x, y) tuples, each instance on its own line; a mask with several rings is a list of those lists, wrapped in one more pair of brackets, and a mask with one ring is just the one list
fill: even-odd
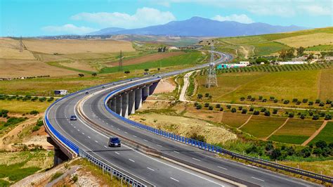
[[(172, 35), (184, 37), (237, 37), (277, 32), (304, 30), (305, 27), (277, 26), (262, 22), (244, 24), (234, 21), (217, 21), (207, 18), (193, 17), (188, 20), (171, 21), (164, 25), (155, 25), (131, 30), (110, 32), (100, 30), (103, 34), (138, 34), (138, 35)], [(105, 30), (105, 29), (103, 29)]]

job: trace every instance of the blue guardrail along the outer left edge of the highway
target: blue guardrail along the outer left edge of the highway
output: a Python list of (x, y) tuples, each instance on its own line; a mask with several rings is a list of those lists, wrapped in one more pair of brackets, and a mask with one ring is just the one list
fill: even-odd
[[(126, 80), (122, 80), (119, 82), (124, 82)], [(108, 84), (103, 84), (103, 85), (99, 85), (99, 86), (93, 86), (89, 89), (95, 89), (98, 88), (100, 86), (106, 86), (106, 85), (110, 85), (110, 84), (115, 84), (118, 82), (113, 82), (113, 83), (108, 83)], [(141, 183), (140, 181), (137, 181), (136, 179), (133, 179), (131, 176), (128, 176), (122, 172), (120, 172), (119, 170), (110, 167), (109, 165), (105, 164), (104, 162), (98, 160), (96, 157), (91, 156), (89, 153), (86, 153), (84, 150), (81, 150), (77, 145), (75, 145), (75, 143), (72, 143), (72, 141), (68, 140), (67, 138), (65, 138), (65, 136), (63, 136), (62, 134), (60, 134), (51, 124), (51, 122), (48, 120), (48, 110), (55, 105), (55, 103), (58, 103), (59, 101), (72, 96), (73, 94), (76, 93), (80, 93), (83, 91), (86, 91), (88, 89), (84, 89), (81, 91), (77, 91), (75, 93), (71, 93), (67, 96), (64, 96), (63, 98), (58, 99), (57, 101), (55, 101), (54, 103), (52, 103), (45, 112), (45, 116), (44, 116), (44, 120), (46, 122), (46, 126), (48, 127), (48, 129), (51, 130), (51, 132), (55, 135), (55, 137), (57, 137), (61, 142), (63, 142), (68, 148), (70, 148), (72, 151), (74, 151), (74, 153), (77, 153), (77, 155), (86, 158), (87, 160), (89, 160), (89, 162), (93, 163), (94, 165), (97, 165), (98, 167), (100, 167), (101, 169), (103, 169), (103, 172), (107, 172), (110, 173), (111, 176), (116, 176), (118, 179), (121, 179), (122, 181), (126, 181), (126, 183), (128, 183), (131, 186), (145, 186), (143, 183)]]

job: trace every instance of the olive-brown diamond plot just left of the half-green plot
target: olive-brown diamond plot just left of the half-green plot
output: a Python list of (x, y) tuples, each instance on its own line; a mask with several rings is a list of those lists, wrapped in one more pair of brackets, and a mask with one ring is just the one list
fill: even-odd
[(256, 136), (256, 138), (266, 138), (275, 129), (278, 129), (285, 120), (284, 117), (253, 116), (241, 130)]

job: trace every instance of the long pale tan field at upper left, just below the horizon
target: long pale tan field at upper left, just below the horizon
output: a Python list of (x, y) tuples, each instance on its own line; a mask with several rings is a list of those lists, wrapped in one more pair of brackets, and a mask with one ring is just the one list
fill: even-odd
[(112, 53), (135, 51), (129, 41), (79, 39), (24, 39), (29, 51), (41, 53)]

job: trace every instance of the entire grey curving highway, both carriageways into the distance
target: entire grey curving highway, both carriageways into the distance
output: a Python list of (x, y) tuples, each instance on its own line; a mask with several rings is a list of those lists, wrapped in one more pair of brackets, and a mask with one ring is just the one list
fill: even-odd
[[(220, 55), (221, 58), (216, 61), (217, 63), (230, 59), (230, 56), (223, 53)], [(158, 76), (167, 77), (188, 70), (195, 70), (195, 67)], [(102, 87), (89, 89), (88, 96), (84, 92), (74, 94), (49, 108), (48, 120), (60, 134), (76, 143), (82, 150), (110, 166), (143, 179), (152, 186), (235, 186), (239, 184), (226, 180), (230, 177), (240, 179), (240, 182), (247, 186), (314, 186), (313, 183), (225, 160), (216, 157), (213, 153), (157, 136), (123, 122), (105, 110), (103, 101), (110, 91), (152, 79), (157, 79), (157, 76), (133, 79), (133, 81), (125, 80), (115, 85), (105, 86), (105, 89)], [(78, 120), (70, 121), (70, 115), (77, 115)], [(86, 122), (85, 117), (108, 131), (98, 129), (94, 124)], [(112, 136), (110, 131), (153, 148), (161, 152), (162, 157), (174, 157), (174, 160), (178, 162), (209, 171), (214, 174), (214, 177), (159, 157), (145, 155), (124, 144), (122, 148), (109, 148), (107, 141)]]

